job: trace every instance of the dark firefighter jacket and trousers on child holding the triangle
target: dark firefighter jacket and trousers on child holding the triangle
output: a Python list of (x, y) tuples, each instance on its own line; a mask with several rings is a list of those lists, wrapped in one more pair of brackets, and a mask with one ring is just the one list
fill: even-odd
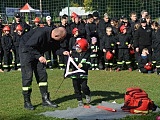
[[(78, 65), (79, 63), (82, 64), (82, 70), (85, 71), (85, 73), (76, 73), (71, 76), (75, 96), (78, 101), (82, 101), (82, 93), (81, 90), (85, 95), (90, 95), (90, 89), (87, 85), (88, 80), (88, 68), (90, 67), (89, 62), (89, 52), (73, 52), (72, 57), (75, 63)], [(72, 70), (76, 70), (75, 67), (72, 68)]]

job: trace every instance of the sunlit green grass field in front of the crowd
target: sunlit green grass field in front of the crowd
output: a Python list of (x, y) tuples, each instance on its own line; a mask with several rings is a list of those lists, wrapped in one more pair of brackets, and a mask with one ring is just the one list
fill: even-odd
[[(41, 106), (41, 95), (33, 79), (32, 103), (36, 110), (29, 111), (23, 109), (23, 96), (21, 91), (21, 73), (11, 71), (0, 73), (0, 120), (61, 120), (37, 115), (45, 111), (64, 110), (67, 107), (77, 107), (77, 101), (74, 99), (73, 87), (70, 79), (65, 79), (58, 93), (55, 92), (63, 80), (63, 71), (58, 69), (47, 70), (49, 91), (51, 99), (58, 103), (58, 108), (43, 108)], [(142, 74), (137, 71), (90, 71), (89, 81), (92, 93), (92, 105), (101, 103), (101, 101), (116, 101), (123, 103), (124, 93), (128, 87), (141, 87), (149, 97), (160, 105), (160, 76), (153, 74)], [(156, 114), (142, 116), (126, 117), (126, 120), (155, 120)]]

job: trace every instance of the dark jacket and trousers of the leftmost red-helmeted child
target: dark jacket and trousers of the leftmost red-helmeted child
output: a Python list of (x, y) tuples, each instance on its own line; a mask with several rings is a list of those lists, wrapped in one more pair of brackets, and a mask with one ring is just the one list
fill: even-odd
[(1, 38), (1, 44), (4, 51), (4, 65), (3, 68), (8, 71), (11, 70), (12, 67), (12, 48), (13, 48), (13, 40), (10, 34), (3, 35)]

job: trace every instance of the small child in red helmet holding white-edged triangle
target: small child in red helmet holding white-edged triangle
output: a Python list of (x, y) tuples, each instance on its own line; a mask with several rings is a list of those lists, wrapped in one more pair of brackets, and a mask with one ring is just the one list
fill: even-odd
[[(88, 42), (86, 39), (81, 38), (76, 42), (76, 52), (72, 53), (72, 58), (78, 67), (85, 71), (85, 73), (75, 73), (71, 76), (75, 96), (78, 100), (78, 106), (83, 106), (82, 93), (86, 96), (86, 103), (90, 103), (90, 89), (87, 85), (88, 81), (88, 68), (90, 66), (89, 56), (90, 53), (88, 51)], [(72, 70), (76, 70), (75, 67)]]

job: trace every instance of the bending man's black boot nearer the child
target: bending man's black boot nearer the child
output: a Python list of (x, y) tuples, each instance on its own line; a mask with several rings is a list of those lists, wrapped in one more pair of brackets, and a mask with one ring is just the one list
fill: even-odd
[(43, 106), (48, 106), (48, 107), (58, 107), (56, 103), (52, 103), (50, 98), (49, 98), (49, 93), (44, 93), (42, 94), (42, 105)]

